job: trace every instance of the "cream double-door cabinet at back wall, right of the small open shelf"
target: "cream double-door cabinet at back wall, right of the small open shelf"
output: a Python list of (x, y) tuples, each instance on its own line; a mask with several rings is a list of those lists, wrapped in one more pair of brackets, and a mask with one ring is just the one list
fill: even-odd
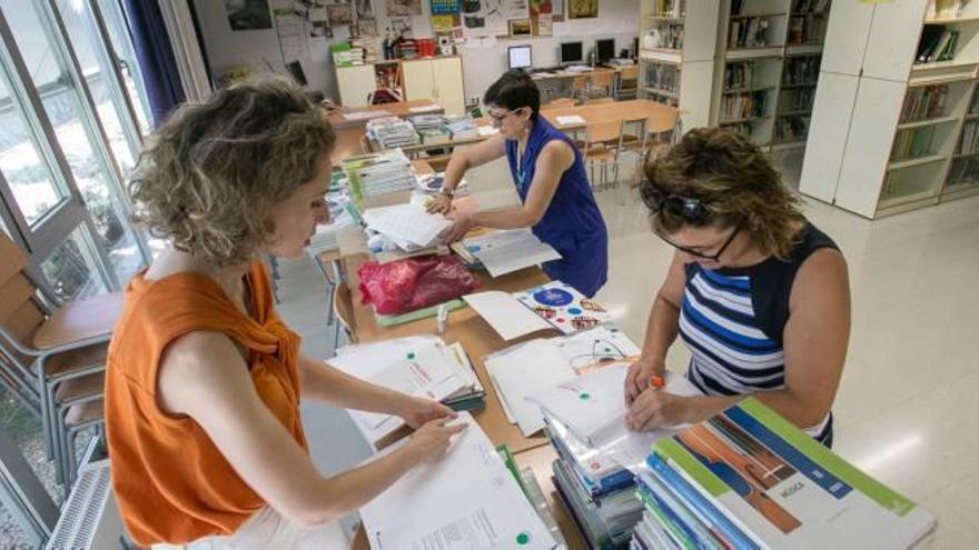
[(446, 113), (465, 112), (463, 63), (457, 57), (402, 62), (405, 99), (431, 99)]

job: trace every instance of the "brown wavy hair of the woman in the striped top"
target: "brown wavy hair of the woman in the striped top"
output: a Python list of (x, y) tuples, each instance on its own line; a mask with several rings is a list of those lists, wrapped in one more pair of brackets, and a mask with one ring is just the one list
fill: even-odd
[[(788, 258), (805, 220), (799, 197), (748, 138), (723, 128), (691, 130), (645, 163), (646, 182), (666, 194), (700, 200), (708, 210), (701, 226), (741, 226), (764, 253)], [(653, 229), (671, 234), (690, 224), (670, 211), (652, 216)]]

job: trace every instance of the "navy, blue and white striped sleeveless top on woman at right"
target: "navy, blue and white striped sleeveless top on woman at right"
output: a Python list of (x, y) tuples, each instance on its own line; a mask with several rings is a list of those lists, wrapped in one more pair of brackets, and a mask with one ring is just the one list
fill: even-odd
[[(799, 267), (821, 248), (835, 243), (811, 223), (789, 261), (777, 258), (748, 268), (686, 268), (680, 336), (691, 351), (689, 378), (709, 396), (778, 390), (784, 386), (782, 333)], [(832, 413), (805, 430), (832, 443)]]

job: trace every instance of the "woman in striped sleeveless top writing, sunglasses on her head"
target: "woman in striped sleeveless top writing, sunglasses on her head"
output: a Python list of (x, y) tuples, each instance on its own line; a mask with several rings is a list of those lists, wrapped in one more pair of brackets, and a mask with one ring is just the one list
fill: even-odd
[[(847, 263), (748, 139), (696, 129), (640, 186), (676, 249), (625, 381), (634, 430), (700, 422), (754, 396), (822, 443), (850, 334)], [(651, 390), (680, 336), (704, 396)]]

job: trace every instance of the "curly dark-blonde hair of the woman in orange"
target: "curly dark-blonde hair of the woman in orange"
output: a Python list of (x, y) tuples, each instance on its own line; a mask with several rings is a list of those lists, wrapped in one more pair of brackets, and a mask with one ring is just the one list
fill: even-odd
[(139, 156), (134, 221), (218, 267), (250, 261), (275, 232), (271, 207), (316, 176), (335, 139), (323, 110), (278, 77), (186, 103)]

